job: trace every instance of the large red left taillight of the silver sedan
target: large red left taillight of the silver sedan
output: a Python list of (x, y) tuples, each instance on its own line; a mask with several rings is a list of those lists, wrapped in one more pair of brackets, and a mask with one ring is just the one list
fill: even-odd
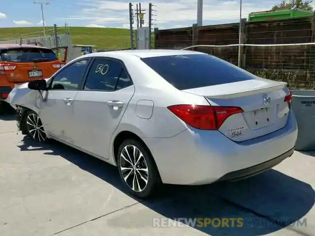
[(196, 129), (218, 130), (231, 115), (242, 113), (239, 107), (174, 105), (167, 107), (172, 113)]

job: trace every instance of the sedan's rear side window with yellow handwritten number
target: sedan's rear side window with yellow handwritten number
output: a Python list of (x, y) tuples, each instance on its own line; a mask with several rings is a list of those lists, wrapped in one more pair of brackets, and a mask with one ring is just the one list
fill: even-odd
[(95, 59), (84, 90), (115, 91), (131, 85), (123, 65), (115, 60)]

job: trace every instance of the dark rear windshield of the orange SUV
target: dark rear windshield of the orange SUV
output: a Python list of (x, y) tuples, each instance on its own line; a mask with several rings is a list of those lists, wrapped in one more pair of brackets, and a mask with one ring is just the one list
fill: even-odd
[(56, 54), (46, 48), (13, 48), (0, 51), (0, 61), (45, 62), (58, 60)]

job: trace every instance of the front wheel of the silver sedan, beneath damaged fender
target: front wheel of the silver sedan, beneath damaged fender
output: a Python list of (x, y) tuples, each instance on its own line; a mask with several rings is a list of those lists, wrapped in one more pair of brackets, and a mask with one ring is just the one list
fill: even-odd
[(24, 122), (27, 136), (39, 143), (44, 143), (46, 141), (47, 136), (43, 127), (43, 123), (41, 122), (41, 119), (37, 113), (31, 110), (27, 111)]

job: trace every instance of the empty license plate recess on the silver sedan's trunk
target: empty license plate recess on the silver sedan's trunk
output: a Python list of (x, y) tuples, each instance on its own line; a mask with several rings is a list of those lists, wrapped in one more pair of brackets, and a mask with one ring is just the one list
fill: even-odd
[(276, 108), (265, 107), (244, 114), (245, 119), (251, 129), (259, 129), (272, 125), (275, 119)]

